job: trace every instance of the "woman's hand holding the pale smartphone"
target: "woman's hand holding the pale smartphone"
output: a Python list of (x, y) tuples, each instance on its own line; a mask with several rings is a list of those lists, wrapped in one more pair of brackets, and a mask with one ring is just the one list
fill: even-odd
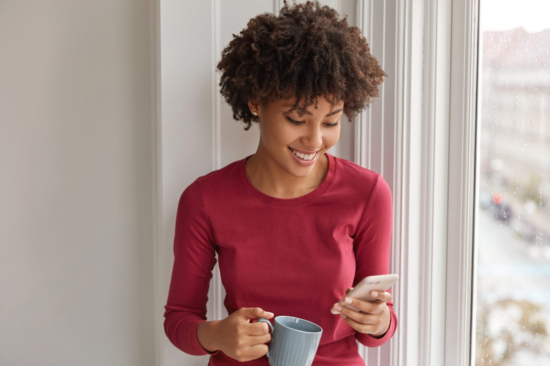
[[(353, 287), (348, 288), (345, 293), (347, 294), (351, 289)], [(374, 302), (349, 297), (351, 299), (349, 305), (356, 307), (360, 312), (346, 306), (342, 306), (342, 309), (339, 310), (335, 307), (340, 306), (338, 303), (335, 303), (333, 308), (340, 313), (340, 316), (351, 328), (359, 333), (371, 334), (373, 337), (379, 338), (386, 334), (389, 328), (390, 313), (386, 302), (392, 301), (392, 294), (386, 291), (371, 291), (371, 296), (376, 298)], [(348, 298), (346, 297), (346, 299)]]

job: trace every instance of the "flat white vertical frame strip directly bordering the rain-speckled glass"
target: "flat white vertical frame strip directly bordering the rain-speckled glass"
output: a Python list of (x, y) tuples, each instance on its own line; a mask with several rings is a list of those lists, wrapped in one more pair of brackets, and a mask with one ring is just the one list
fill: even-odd
[(478, 0), (453, 2), (452, 67), (449, 115), (449, 219), (445, 365), (475, 364), (474, 220), (480, 175), (475, 151), (480, 151), (476, 123)]

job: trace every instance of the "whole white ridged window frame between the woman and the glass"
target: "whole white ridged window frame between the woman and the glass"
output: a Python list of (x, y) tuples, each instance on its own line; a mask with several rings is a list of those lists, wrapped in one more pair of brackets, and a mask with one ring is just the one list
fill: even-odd
[[(478, 0), (394, 0), (387, 7), (390, 1), (357, 0), (357, 26), (373, 40), (373, 55), (395, 57), (393, 80), (384, 81), (395, 83), (395, 92), (381, 93), (395, 113), (361, 115), (354, 160), (376, 167), (393, 154), (390, 268), (400, 275), (393, 287), (399, 322), (388, 345), (362, 348), (362, 356), (369, 366), (463, 366), (472, 357)], [(397, 17), (395, 30), (371, 34), (388, 16)], [(379, 129), (391, 131), (393, 142), (382, 134), (382, 151), (371, 151), (371, 131)]]

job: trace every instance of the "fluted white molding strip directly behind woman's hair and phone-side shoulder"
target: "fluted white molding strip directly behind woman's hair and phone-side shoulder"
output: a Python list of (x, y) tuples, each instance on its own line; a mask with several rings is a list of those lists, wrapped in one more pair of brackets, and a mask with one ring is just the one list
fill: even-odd
[[(374, 55), (382, 69), (389, 77), (379, 87), (379, 97), (372, 100), (370, 106), (357, 117), (355, 123), (354, 159), (355, 163), (376, 171), (384, 177), (392, 189), (394, 202), (394, 224), (392, 233), (390, 273), (398, 273), (403, 280), (401, 271), (401, 245), (399, 237), (400, 225), (395, 216), (400, 212), (401, 166), (399, 143), (403, 104), (399, 96), (400, 81), (403, 79), (403, 69), (398, 61), (399, 36), (403, 33), (402, 24), (397, 21), (398, 14), (403, 11), (403, 2), (358, 0), (356, 10), (356, 25), (366, 38), (371, 54)], [(384, 159), (386, 157), (386, 159)], [(396, 173), (398, 176), (396, 177)], [(401, 329), (401, 281), (392, 288), (394, 310), (398, 317), (398, 326)], [(368, 348), (357, 343), (359, 353), (367, 365), (394, 364), (399, 353), (399, 333), (392, 340), (381, 347)]]

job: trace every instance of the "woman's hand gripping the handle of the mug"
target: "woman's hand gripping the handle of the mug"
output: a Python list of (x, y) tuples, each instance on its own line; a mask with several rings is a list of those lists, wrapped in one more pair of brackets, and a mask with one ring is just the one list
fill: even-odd
[(271, 340), (269, 326), (250, 319), (272, 317), (259, 307), (241, 307), (220, 320), (215, 329), (219, 350), (240, 362), (262, 357), (269, 351), (265, 344)]

